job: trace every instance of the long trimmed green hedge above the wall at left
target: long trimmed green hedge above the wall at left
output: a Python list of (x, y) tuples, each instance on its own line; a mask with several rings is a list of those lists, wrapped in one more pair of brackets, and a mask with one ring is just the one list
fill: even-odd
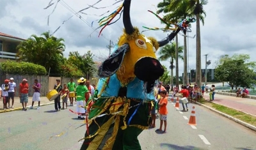
[(1, 71), (13, 75), (46, 75), (47, 71), (44, 66), (26, 63), (26, 62), (14, 62), (6, 61), (1, 63)]

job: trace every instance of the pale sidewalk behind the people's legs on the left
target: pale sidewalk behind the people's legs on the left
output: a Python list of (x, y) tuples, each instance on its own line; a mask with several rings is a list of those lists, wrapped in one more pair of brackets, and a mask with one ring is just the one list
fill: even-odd
[[(49, 101), (45, 96), (40, 97), (40, 106), (50, 105), (52, 103), (54, 103), (54, 101)], [(10, 100), (10, 105), (12, 107), (12, 99)], [(27, 108), (29, 108), (31, 105), (32, 105), (32, 97), (28, 97)], [(34, 107), (37, 107), (37, 106), (38, 106), (38, 102), (35, 101)], [(7, 104), (7, 107), (8, 107), (8, 104)], [(14, 107), (14, 109), (3, 110), (3, 98), (0, 99), (0, 113), (2, 113), (2, 112), (10, 112), (10, 111), (13, 111), (13, 110), (21, 110), (22, 109), (22, 105), (20, 103), (20, 98), (19, 97), (15, 97), (14, 98), (13, 107)]]

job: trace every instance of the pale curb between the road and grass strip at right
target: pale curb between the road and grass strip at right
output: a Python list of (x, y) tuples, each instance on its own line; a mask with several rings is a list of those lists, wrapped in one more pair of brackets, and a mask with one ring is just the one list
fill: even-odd
[(232, 121), (235, 121), (236, 123), (239, 123), (239, 124), (245, 126), (246, 128), (250, 128), (251, 130), (256, 131), (256, 126), (253, 126), (252, 124), (245, 123), (244, 121), (241, 121), (241, 120), (239, 120), (239, 119), (236, 119), (235, 117), (232, 117), (232, 116), (229, 116), (229, 115), (227, 115), (227, 114), (224, 114), (223, 112), (220, 112), (220, 111), (218, 111), (218, 110), (212, 109), (211, 107), (208, 107), (207, 105), (204, 105), (204, 104), (199, 103), (199, 102), (197, 102), (197, 101), (196, 101), (196, 103), (197, 103), (198, 105), (201, 105), (201, 106), (207, 108), (207, 109), (212, 110), (213, 112), (216, 112), (216, 113), (220, 114), (221, 116), (227, 117), (228, 119), (230, 119), (230, 120), (232, 120)]

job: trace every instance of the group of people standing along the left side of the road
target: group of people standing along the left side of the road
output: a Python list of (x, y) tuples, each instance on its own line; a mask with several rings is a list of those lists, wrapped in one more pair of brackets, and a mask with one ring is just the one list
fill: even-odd
[[(67, 109), (68, 107), (68, 99), (70, 100), (70, 106), (74, 106), (74, 101), (77, 101), (77, 114), (79, 114), (79, 119), (84, 119), (82, 115), (84, 115), (84, 107), (87, 101), (92, 100), (95, 85), (90, 84), (90, 80), (86, 80), (83, 77), (77, 80), (78, 85), (70, 79), (68, 84), (63, 84), (61, 86), (60, 79), (56, 80), (56, 84), (54, 85), (54, 89), (58, 91), (58, 97), (54, 99), (54, 109), (56, 111), (61, 109)], [(27, 79), (22, 79), (22, 82), (19, 84), (19, 89), (16, 89), (16, 83), (13, 78), (5, 79), (4, 84), (0, 87), (0, 98), (3, 97), (3, 109), (14, 109), (14, 98), (15, 93), (19, 93), (20, 103), (22, 104), (22, 110), (27, 110), (28, 105), (28, 93), (29, 93), (29, 84)], [(34, 93), (32, 97), (31, 107), (29, 109), (34, 109), (35, 101), (38, 102), (38, 107), (36, 109), (40, 109), (40, 89), (41, 84), (37, 79), (34, 80), (34, 84), (31, 86), (33, 88)], [(18, 91), (17, 91), (18, 90)], [(76, 93), (74, 96), (71, 96), (70, 93)], [(61, 99), (62, 99), (62, 107), (61, 107)], [(12, 100), (12, 101), (11, 101)], [(11, 104), (11, 105), (10, 105)]]

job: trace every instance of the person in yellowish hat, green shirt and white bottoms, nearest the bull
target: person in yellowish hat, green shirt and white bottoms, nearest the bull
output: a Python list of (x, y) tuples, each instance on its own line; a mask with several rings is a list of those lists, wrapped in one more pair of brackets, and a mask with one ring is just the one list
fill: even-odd
[(85, 81), (86, 79), (84, 79), (83, 77), (81, 77), (79, 80), (77, 80), (78, 82), (78, 86), (75, 89), (76, 92), (76, 111), (78, 113), (78, 119), (84, 119), (84, 117), (82, 117), (83, 114), (85, 114), (85, 97), (89, 96), (89, 91), (87, 89), (87, 87), (85, 86)]

